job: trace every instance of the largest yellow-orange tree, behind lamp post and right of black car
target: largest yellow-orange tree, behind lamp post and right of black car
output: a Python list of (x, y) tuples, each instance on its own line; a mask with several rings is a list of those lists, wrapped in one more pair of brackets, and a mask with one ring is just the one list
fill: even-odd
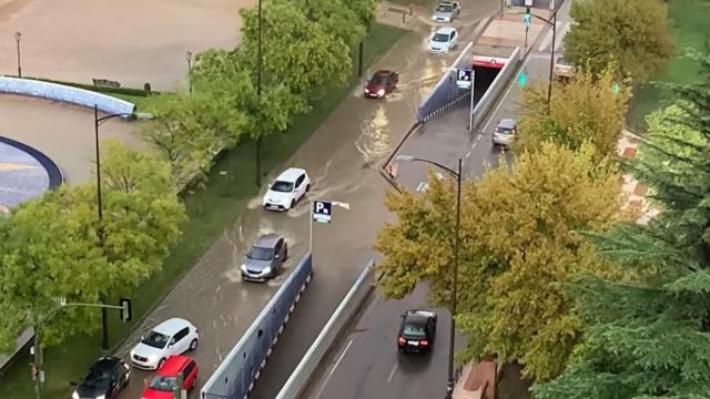
[[(594, 153), (545, 143), (520, 155), (513, 175), (504, 164), (465, 184), (456, 315), (469, 337), (464, 359), (496, 354), (542, 380), (564, 370), (581, 324), (561, 285), (581, 270), (609, 273), (574, 232), (604, 228), (620, 205), (618, 177)], [(397, 221), (375, 246), (387, 296), (428, 280), (430, 299), (449, 303), (454, 190), (430, 178), (422, 196), (387, 196)]]

